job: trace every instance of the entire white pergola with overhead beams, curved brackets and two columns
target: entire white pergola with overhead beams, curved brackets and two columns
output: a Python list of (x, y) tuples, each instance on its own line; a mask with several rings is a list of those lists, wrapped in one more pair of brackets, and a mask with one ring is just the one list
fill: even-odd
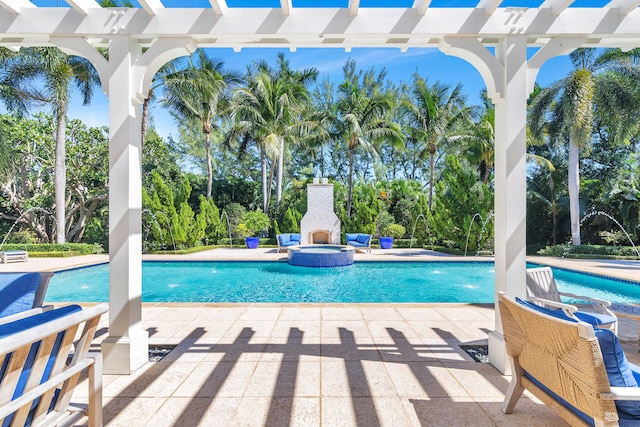
[[(209, 0), (205, 8), (103, 9), (94, 0), (70, 7), (37, 7), (0, 0), (0, 46), (58, 46), (90, 60), (109, 98), (109, 336), (102, 345), (105, 373), (128, 374), (147, 360), (142, 329), (141, 108), (158, 69), (198, 47), (340, 48), (437, 47), (471, 63), (496, 106), (495, 290), (525, 295), (527, 98), (540, 67), (578, 47), (640, 47), (640, 0), (601, 7), (570, 7), (544, 0), (537, 7), (500, 7), (479, 0), (472, 8), (233, 8)], [(533, 0), (535, 1), (535, 0)], [(540, 1), (540, 0), (539, 0)], [(606, 0), (604, 0), (606, 2)], [(345, 0), (347, 3), (347, 0)], [(389, 2), (391, 3), (391, 1)], [(108, 48), (109, 59), (96, 50)], [(527, 58), (527, 48), (539, 48)], [(505, 371), (500, 320), (489, 333), (491, 363)]]

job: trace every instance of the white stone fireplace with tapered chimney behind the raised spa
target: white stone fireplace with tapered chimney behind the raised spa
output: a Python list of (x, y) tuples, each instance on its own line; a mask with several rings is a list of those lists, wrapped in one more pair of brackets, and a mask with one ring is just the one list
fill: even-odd
[(326, 178), (307, 184), (307, 213), (300, 222), (303, 245), (340, 244), (340, 220), (333, 211), (333, 184)]

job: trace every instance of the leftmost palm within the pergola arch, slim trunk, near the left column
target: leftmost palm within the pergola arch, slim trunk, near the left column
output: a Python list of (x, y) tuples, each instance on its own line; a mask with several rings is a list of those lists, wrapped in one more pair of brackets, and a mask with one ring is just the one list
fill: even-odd
[(223, 70), (224, 63), (207, 57), (198, 49), (189, 57), (186, 68), (168, 74), (164, 80), (162, 104), (177, 120), (195, 120), (202, 124), (207, 167), (207, 199), (211, 198), (213, 166), (211, 132), (217, 129), (220, 115), (228, 112), (229, 87), (239, 81), (234, 72)]

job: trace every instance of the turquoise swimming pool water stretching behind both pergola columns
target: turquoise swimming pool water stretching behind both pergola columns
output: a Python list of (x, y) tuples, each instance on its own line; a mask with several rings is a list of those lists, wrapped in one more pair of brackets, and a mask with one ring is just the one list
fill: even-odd
[[(109, 300), (106, 264), (56, 273), (48, 302)], [(640, 301), (640, 286), (554, 270), (562, 291), (613, 302)], [(489, 262), (360, 262), (307, 268), (286, 262), (143, 262), (144, 302), (491, 303)]]

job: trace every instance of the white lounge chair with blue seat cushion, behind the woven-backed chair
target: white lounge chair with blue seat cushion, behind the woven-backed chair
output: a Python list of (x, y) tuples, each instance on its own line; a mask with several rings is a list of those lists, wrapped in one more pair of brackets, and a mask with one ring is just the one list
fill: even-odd
[[(596, 312), (578, 310), (575, 305), (563, 303), (561, 297), (589, 301), (593, 304)], [(542, 307), (562, 310), (565, 315), (587, 322), (594, 327), (612, 329), (617, 333), (618, 318), (609, 309), (611, 307), (609, 301), (559, 292), (550, 267), (527, 269), (527, 299)]]

